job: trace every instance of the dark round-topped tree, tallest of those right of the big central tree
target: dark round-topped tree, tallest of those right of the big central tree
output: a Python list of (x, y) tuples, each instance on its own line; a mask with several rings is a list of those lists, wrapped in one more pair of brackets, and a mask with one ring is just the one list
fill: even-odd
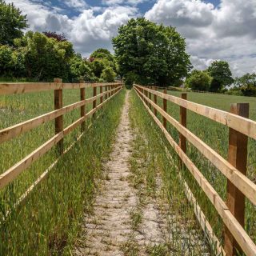
[(213, 78), (210, 91), (221, 91), (225, 86), (230, 86), (234, 82), (228, 62), (215, 61), (209, 66), (208, 72)]

